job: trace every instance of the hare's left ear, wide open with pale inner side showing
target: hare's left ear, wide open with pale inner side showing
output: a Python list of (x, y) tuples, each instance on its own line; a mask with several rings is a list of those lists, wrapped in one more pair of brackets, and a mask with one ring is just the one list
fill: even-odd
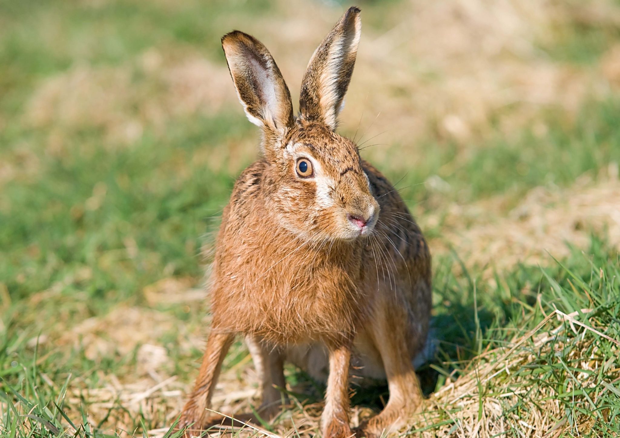
[(283, 133), (293, 123), (291, 94), (267, 48), (247, 33), (227, 33), (222, 47), (237, 95), (254, 125)]

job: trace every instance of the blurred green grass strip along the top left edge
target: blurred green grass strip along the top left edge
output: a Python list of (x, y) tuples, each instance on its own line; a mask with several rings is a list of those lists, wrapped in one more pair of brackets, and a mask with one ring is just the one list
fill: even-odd
[(205, 56), (221, 59), (219, 37), (233, 20), (268, 12), (267, 1), (215, 0), (206, 4), (192, 0), (173, 5), (2, 0), (0, 63), (4, 68), (0, 91), (8, 92), (10, 98), (33, 81), (76, 62), (120, 64), (154, 46), (193, 47)]

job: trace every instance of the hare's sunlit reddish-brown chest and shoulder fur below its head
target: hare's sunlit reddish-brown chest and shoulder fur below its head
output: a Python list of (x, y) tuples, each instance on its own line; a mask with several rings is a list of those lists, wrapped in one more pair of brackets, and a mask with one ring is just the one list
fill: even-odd
[(265, 166), (257, 162), (242, 173), (232, 195), (239, 198), (224, 209), (212, 274), (213, 330), (277, 345), (354, 333), (363, 305), (356, 287), (361, 247), (324, 248), (283, 227), (262, 228), (277, 222), (260, 190), (268, 183)]

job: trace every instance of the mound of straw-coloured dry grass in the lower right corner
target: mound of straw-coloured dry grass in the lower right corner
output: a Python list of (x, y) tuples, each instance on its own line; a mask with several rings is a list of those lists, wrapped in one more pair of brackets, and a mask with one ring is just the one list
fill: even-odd
[[(520, 373), (523, 365), (535, 364), (541, 357), (562, 355), (562, 350), (567, 348), (568, 344), (573, 344), (572, 348), (576, 351), (590, 349), (594, 341), (578, 339), (580, 336), (583, 338), (585, 332), (583, 329), (577, 330), (580, 327), (575, 328), (570, 323), (575, 321), (573, 317), (590, 311), (591, 309), (583, 309), (566, 315), (556, 310), (547, 315), (534, 330), (512, 339), (510, 348), (480, 354), (472, 361), (469, 373), (432, 395), (428, 400), (429, 406), (423, 414), (420, 414), (421, 418), (413, 428), (423, 429), (425, 426), (436, 425), (439, 423), (436, 419), (443, 417), (441, 414), (453, 412), (454, 414), (450, 415), (451, 419), (454, 419), (453, 422), (438, 428), (433, 427), (433, 432), (421, 431), (420, 436), (436, 437), (452, 434), (457, 437), (492, 437), (517, 431), (521, 437), (539, 437), (543, 434), (546, 437), (559, 437), (566, 432), (577, 436), (590, 432), (593, 426), (591, 418), (584, 416), (581, 419), (577, 414), (575, 424), (570, 424), (564, 416), (565, 404), (560, 398), (555, 398), (560, 394), (544, 385), (537, 385), (536, 379), (532, 379), (531, 375)], [(618, 352), (620, 341), (614, 343), (615, 351)], [(609, 365), (596, 357), (595, 348), (590, 360), (580, 363), (580, 373), (565, 387), (565, 393), (578, 392), (588, 387), (590, 384), (588, 380), (595, 380), (592, 376), (601, 368), (608, 369)], [(616, 379), (612, 383), (620, 380), (618, 371), (620, 369), (614, 370)], [(489, 382), (492, 380), (503, 380), (500, 392), (489, 390)], [(582, 402), (585, 408), (600, 406), (599, 398), (608, 390), (608, 387), (601, 385), (591, 400), (588, 400), (590, 403)], [(522, 400), (531, 400), (534, 403), (518, 414), (507, 414), (507, 411), (509, 412), (513, 406), (518, 406)], [(573, 406), (573, 409), (575, 408)]]

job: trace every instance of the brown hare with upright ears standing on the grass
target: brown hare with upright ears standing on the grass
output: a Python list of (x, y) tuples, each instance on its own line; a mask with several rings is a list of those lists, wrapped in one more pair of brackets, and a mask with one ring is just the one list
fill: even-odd
[[(211, 333), (182, 427), (214, 423), (210, 400), (235, 335), (246, 337), (262, 376), (262, 418), (280, 410), (285, 360), (312, 367), (311, 374), (328, 370), (325, 438), (396, 431), (422, 403), (412, 359), (430, 318), (427, 243), (394, 187), (335, 133), (360, 30), (360, 9), (351, 7), (312, 55), (298, 116), (267, 48), (239, 31), (222, 38), (241, 105), (262, 128), (262, 154), (224, 208)], [(355, 431), (352, 355), (361, 374), (389, 387), (384, 410)]]

